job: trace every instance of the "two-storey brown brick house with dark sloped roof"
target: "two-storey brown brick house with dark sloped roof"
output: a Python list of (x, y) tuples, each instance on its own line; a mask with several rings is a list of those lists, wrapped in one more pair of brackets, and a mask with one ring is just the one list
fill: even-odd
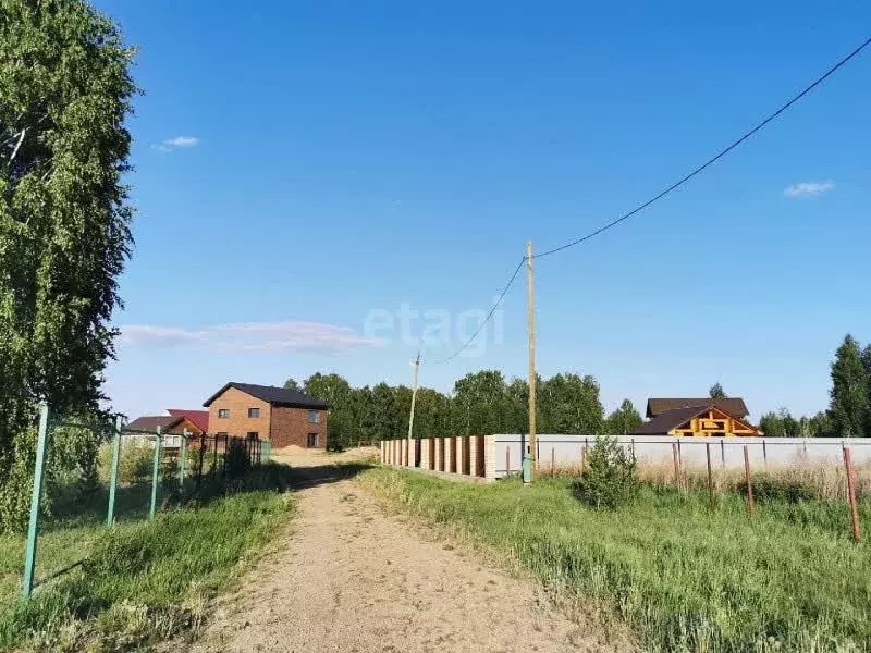
[(297, 390), (231, 381), (203, 405), (212, 434), (269, 440), (274, 448), (327, 447), (330, 405)]

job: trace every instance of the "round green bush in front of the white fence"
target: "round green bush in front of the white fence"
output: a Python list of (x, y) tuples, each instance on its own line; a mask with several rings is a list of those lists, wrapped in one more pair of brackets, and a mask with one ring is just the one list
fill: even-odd
[(587, 469), (572, 483), (572, 492), (581, 503), (613, 510), (638, 495), (638, 464), (616, 438), (598, 436), (587, 463)]

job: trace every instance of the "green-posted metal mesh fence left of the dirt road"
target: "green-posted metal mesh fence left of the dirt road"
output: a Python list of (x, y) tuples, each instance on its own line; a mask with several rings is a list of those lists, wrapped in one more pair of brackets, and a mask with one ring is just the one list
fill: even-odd
[[(173, 463), (177, 464), (179, 496), (196, 495), (206, 480), (223, 482), (252, 467), (269, 460), (271, 445), (257, 438), (235, 438), (208, 433), (194, 434), (162, 433), (160, 427), (156, 431), (130, 430), (123, 427), (121, 418), (114, 424), (106, 423), (75, 423), (54, 420), (48, 406), (42, 406), (39, 412), (39, 427), (36, 449), (36, 467), (34, 470), (33, 494), (30, 496), (30, 518), (27, 528), (27, 543), (24, 556), (24, 575), (22, 580), (22, 596), (29, 599), (33, 593), (34, 569), (36, 567), (37, 543), (39, 533), (40, 503), (44, 493), (45, 467), (48, 449), (50, 447), (51, 431), (58, 427), (88, 429), (94, 432), (112, 432), (112, 451), (110, 463), (110, 479), (108, 505), (106, 514), (107, 527), (115, 523), (115, 498), (119, 486), (119, 468), (121, 452), (126, 441), (127, 446), (154, 447), (151, 456), (151, 480), (148, 518), (154, 519), (157, 514), (158, 489), (161, 484), (161, 458), (164, 452), (172, 452)], [(51, 577), (59, 572), (52, 574)]]

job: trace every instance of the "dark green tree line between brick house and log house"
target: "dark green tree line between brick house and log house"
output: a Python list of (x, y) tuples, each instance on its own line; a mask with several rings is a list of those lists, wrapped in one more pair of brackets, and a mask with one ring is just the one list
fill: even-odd
[[(303, 390), (332, 406), (327, 421), (331, 448), (360, 442), (392, 440), (408, 434), (412, 389), (379, 383), (353, 387), (339, 374), (312, 374), (302, 384), (290, 379), (285, 387)], [(529, 384), (506, 380), (498, 370), (469, 373), (441, 393), (419, 387), (415, 401), (415, 438), (525, 433), (528, 430)], [(621, 435), (641, 423), (629, 399), (605, 416), (599, 383), (591, 375), (556, 374), (538, 380), (538, 430), (542, 433)]]

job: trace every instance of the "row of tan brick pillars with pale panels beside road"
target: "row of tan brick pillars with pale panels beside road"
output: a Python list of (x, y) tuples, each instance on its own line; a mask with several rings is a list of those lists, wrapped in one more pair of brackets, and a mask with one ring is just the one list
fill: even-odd
[(457, 435), (421, 440), (383, 440), (381, 463), (470, 477), (483, 481), (496, 478), (496, 436)]

